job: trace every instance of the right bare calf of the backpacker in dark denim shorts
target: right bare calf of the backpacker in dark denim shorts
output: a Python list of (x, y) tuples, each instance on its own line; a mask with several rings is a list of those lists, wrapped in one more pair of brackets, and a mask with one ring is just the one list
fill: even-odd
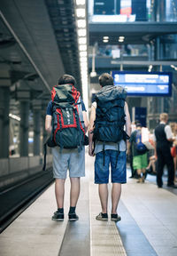
[(121, 195), (121, 184), (112, 183), (112, 213), (113, 214), (117, 213), (120, 195)]

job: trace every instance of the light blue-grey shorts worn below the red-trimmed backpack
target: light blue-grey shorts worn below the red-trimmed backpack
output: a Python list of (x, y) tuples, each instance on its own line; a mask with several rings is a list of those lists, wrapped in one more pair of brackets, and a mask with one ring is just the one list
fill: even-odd
[(67, 170), (69, 170), (69, 177), (78, 178), (85, 176), (85, 147), (78, 152), (77, 148), (62, 149), (52, 148), (53, 156), (53, 177), (55, 179), (65, 180), (67, 177)]

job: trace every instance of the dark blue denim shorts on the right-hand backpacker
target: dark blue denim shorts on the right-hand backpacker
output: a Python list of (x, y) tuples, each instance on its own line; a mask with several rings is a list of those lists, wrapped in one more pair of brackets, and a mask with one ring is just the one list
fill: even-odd
[(95, 160), (95, 183), (109, 183), (109, 167), (111, 164), (112, 183), (127, 182), (127, 159), (126, 151), (105, 150), (96, 154)]

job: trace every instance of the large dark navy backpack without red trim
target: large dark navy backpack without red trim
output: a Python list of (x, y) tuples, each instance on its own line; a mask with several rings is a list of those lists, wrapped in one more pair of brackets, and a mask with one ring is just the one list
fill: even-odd
[(94, 140), (117, 143), (127, 139), (124, 131), (126, 97), (126, 90), (114, 85), (104, 86), (96, 93)]

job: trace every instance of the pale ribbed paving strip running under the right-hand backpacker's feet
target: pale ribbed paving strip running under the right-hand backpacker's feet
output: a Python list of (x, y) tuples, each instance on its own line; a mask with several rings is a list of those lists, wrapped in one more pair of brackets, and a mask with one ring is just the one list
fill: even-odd
[[(100, 203), (97, 192), (97, 185), (93, 184), (90, 178), (89, 183), (89, 211), (90, 211), (90, 255), (127, 255), (116, 224), (111, 220), (96, 220), (100, 212)], [(110, 217), (110, 216), (109, 216)]]

